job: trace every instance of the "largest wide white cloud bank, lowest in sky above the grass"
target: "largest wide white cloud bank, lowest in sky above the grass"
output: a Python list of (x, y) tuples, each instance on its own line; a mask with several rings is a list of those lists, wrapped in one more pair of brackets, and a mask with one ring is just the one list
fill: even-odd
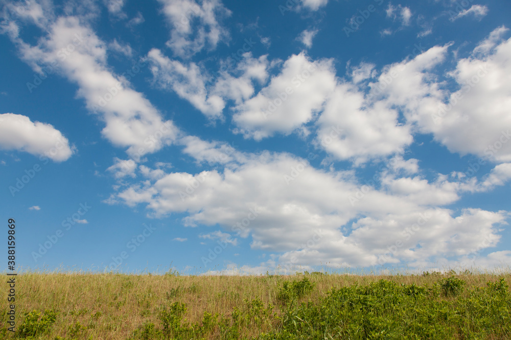
[[(188, 153), (197, 160), (217, 159), (221, 146), (202, 141)], [(507, 217), (506, 212), (480, 209), (456, 217), (442, 206), (456, 202), (467, 188), (442, 174), (428, 181), (414, 159), (392, 159), (375, 176), (381, 182), (377, 189), (360, 184), (352, 171), (316, 169), (308, 159), (287, 153), (230, 153), (232, 161), (225, 161), (223, 172), (168, 173), (129, 186), (115, 199), (142, 204), (153, 216), (186, 212), (187, 226), (223, 227), (202, 234), (204, 239), (236, 242), (230, 238), (233, 233), (251, 237), (252, 249), (284, 251), (275, 259), (286, 268), (326, 262), (333, 267), (399, 265), (410, 260), (417, 268), (435, 266), (438, 259), (461, 260), (495, 246), (498, 227)], [(474, 185), (485, 187), (481, 191), (490, 190), (489, 182), (503, 185), (507, 167), (495, 169), (490, 177)]]

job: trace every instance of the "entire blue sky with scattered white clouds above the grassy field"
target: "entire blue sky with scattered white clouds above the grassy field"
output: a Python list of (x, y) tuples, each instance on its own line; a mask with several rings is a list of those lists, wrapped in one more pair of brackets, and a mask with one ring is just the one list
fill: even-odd
[(511, 5), (3, 1), (17, 265), (511, 263)]

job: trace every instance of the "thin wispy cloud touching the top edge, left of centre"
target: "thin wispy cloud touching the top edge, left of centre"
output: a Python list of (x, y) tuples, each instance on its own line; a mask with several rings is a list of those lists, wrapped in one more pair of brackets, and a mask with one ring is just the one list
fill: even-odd
[(231, 12), (220, 0), (204, 0), (201, 5), (193, 0), (158, 1), (172, 27), (167, 45), (176, 56), (188, 58), (205, 47), (213, 50), (219, 42), (229, 40), (229, 32), (219, 19), (230, 16)]

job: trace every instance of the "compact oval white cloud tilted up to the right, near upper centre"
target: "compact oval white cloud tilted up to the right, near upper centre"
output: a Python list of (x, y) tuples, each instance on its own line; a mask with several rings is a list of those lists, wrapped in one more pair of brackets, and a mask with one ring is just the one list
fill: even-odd
[(255, 140), (275, 133), (289, 135), (321, 111), (335, 85), (330, 60), (293, 55), (267, 86), (235, 108), (235, 133)]

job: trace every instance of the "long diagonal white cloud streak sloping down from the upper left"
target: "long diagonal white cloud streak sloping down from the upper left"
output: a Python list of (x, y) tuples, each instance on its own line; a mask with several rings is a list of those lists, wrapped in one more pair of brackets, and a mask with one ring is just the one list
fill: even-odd
[(37, 45), (18, 36), (11, 38), (34, 70), (42, 72), (44, 67), (51, 67), (78, 85), (78, 96), (105, 122), (105, 138), (128, 147), (127, 152), (138, 158), (172, 143), (179, 134), (173, 122), (163, 120), (149, 100), (131, 88), (125, 76), (109, 70), (106, 44), (81, 24), (80, 18), (58, 17), (43, 28), (47, 34)]

